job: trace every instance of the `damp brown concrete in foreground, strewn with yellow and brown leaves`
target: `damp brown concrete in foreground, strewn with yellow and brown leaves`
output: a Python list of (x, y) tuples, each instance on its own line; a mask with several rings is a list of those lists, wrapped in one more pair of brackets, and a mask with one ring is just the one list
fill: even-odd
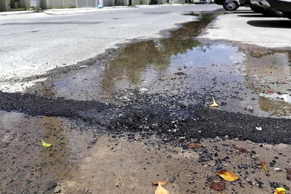
[[(205, 149), (184, 150), (176, 147), (176, 143), (163, 143), (156, 138), (137, 139), (132, 143), (125, 139), (99, 138), (96, 144), (99, 149), (89, 150), (83, 160), (59, 180), (63, 192), (84, 193), (89, 189), (92, 193), (146, 194), (156, 189), (151, 182), (167, 179), (165, 188), (170, 193), (219, 193), (210, 189), (209, 184), (218, 178), (215, 172), (222, 169), (240, 177), (236, 182), (227, 182), (223, 193), (272, 193), (273, 187), (289, 188), (290, 185), (285, 172), (290, 157), (283, 156), (289, 145), (264, 144), (261, 147), (249, 141), (217, 138), (204, 139)], [(180, 143), (185, 143), (184, 139)], [(233, 145), (256, 154), (240, 153)], [(276, 160), (272, 167), (268, 164), (270, 176), (266, 176), (259, 165), (263, 160)]]

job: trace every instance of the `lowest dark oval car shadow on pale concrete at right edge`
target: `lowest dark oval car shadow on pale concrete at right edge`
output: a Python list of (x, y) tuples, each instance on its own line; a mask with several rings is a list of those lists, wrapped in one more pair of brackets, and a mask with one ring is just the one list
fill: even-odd
[(291, 20), (251, 20), (246, 23), (256, 27), (291, 28)]

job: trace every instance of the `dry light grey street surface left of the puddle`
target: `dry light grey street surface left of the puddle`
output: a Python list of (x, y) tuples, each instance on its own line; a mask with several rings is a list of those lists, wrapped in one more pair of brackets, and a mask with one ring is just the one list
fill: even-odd
[[(75, 15), (45, 13), (0, 16), (2, 45), (0, 89), (23, 91), (32, 85), (12, 80), (44, 74), (56, 66), (73, 65), (94, 57), (115, 44), (133, 38), (161, 37), (160, 31), (193, 21), (183, 14), (221, 8), (211, 5), (132, 8)], [(12, 79), (12, 80), (11, 80)]]

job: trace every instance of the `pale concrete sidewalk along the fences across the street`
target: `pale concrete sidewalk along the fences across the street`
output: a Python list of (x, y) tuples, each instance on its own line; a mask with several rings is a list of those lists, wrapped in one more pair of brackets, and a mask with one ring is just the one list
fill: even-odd
[[(100, 12), (100, 11), (132, 9), (132, 8), (154, 8), (154, 7), (179, 6), (179, 5), (183, 5), (183, 4), (174, 3), (174, 4), (159, 4), (159, 5), (110, 6), (110, 7), (103, 7), (103, 8), (97, 8), (97, 7), (62, 8), (62, 9), (44, 9), (38, 12), (44, 12), (46, 14), (51, 14), (51, 15), (66, 15), (66, 14), (89, 13), (89, 12)], [(0, 15), (15, 15), (15, 14), (34, 13), (34, 12), (36, 11), (11, 11), (11, 12), (0, 12)]]

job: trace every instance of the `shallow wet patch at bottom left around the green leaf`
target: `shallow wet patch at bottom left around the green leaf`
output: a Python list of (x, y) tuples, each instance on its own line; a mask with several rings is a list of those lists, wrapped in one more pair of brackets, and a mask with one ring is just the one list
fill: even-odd
[[(0, 111), (0, 121), (0, 193), (42, 193), (91, 140), (63, 118)], [(42, 147), (40, 139), (52, 147)]]

